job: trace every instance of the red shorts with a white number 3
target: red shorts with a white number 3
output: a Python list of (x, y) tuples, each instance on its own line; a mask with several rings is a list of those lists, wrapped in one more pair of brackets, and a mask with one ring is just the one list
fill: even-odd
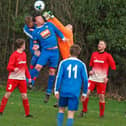
[(20, 93), (27, 93), (26, 80), (8, 79), (6, 91), (7, 92), (13, 92), (16, 87), (18, 87)]

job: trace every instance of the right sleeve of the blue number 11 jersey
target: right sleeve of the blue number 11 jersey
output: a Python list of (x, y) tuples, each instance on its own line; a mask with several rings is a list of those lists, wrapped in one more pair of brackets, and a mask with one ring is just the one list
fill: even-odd
[(87, 68), (85, 64), (82, 66), (82, 80), (83, 80), (83, 94), (82, 96), (87, 96), (87, 89), (88, 89), (88, 75), (87, 75)]

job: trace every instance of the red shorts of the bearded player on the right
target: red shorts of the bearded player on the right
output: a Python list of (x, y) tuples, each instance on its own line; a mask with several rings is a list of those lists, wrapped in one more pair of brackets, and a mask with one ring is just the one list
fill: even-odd
[(100, 83), (100, 82), (95, 82), (95, 81), (91, 81), (91, 80), (88, 81), (88, 89), (93, 91), (96, 87), (98, 94), (105, 94), (106, 85), (107, 84)]

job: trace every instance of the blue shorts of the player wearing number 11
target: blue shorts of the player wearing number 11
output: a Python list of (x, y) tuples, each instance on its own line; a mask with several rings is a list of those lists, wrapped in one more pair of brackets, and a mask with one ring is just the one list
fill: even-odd
[(76, 97), (62, 97), (59, 98), (59, 107), (68, 107), (69, 111), (78, 110), (79, 100)]

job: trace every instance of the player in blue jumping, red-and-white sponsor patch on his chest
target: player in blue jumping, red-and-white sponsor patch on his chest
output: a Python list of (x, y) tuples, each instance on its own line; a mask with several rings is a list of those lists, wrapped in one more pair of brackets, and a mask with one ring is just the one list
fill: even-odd
[(35, 29), (33, 32), (33, 39), (39, 43), (36, 43), (34, 46), (40, 46), (41, 54), (37, 61), (37, 65), (31, 70), (30, 73), (32, 80), (36, 80), (39, 75), (39, 71), (48, 63), (49, 79), (46, 97), (44, 99), (44, 102), (47, 103), (52, 92), (55, 80), (55, 72), (59, 62), (57, 35), (64, 41), (67, 41), (67, 39), (52, 23), (44, 22), (42, 16), (36, 16), (35, 23), (37, 25), (37, 29)]

